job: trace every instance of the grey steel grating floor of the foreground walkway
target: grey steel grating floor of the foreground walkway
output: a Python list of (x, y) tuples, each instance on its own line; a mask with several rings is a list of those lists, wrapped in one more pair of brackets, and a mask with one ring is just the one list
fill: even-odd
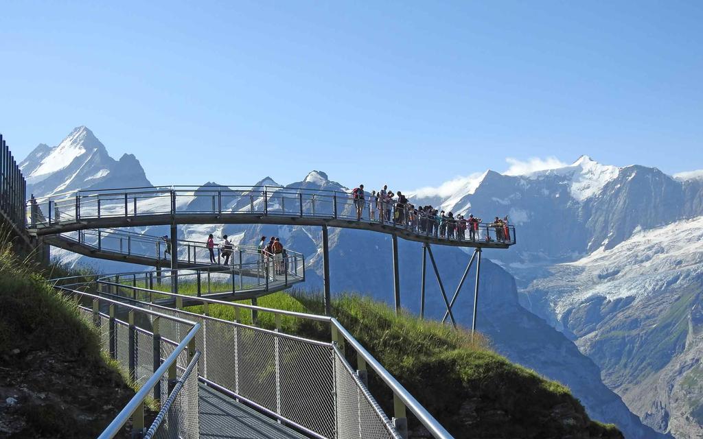
[(200, 384), (200, 438), (304, 439), (273, 419)]

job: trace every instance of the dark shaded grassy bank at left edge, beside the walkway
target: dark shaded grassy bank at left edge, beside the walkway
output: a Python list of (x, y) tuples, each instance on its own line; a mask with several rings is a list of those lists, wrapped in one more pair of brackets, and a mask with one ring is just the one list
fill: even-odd
[(94, 438), (134, 395), (75, 304), (8, 244), (0, 249), (0, 372), (0, 437)]

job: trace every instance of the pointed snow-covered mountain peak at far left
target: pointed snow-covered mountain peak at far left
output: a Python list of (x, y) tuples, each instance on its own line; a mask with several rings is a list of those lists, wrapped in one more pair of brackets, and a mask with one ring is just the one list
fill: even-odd
[(113, 159), (85, 126), (73, 129), (53, 148), (41, 143), (22, 160), (20, 169), (27, 180), (27, 197), (78, 189), (151, 185), (134, 155)]

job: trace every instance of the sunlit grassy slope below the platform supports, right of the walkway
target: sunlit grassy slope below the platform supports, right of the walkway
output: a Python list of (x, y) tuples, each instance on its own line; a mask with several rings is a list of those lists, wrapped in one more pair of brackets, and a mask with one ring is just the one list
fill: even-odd
[[(271, 294), (259, 299), (270, 308), (321, 313), (318, 297)], [(395, 317), (385, 304), (359, 296), (333, 302), (334, 315), (456, 438), (621, 438), (614, 426), (591, 421), (568, 388), (543, 379), (492, 352), (482, 337), (454, 331), (412, 315)], [(199, 307), (193, 307), (198, 311)], [(211, 315), (233, 319), (231, 307), (212, 306)], [(243, 313), (243, 320), (250, 315)], [(273, 327), (273, 317), (259, 315)], [(283, 317), (283, 328), (329, 339), (328, 327)], [(353, 362), (353, 358), (350, 358)], [(373, 380), (382, 405), (391, 400)], [(387, 410), (390, 407), (385, 407)], [(415, 433), (423, 433), (411, 424)]]

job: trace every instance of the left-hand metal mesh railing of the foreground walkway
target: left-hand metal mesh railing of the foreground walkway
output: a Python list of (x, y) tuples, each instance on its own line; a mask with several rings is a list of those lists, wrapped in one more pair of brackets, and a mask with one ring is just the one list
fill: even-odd
[(129, 381), (138, 388), (98, 438), (114, 438), (129, 419), (133, 433), (145, 433), (144, 414), (149, 399), (157, 405), (161, 402), (150, 433), (161, 431), (168, 437), (198, 438), (201, 353), (195, 348), (195, 339), (202, 325), (91, 294), (84, 291), (89, 284), (72, 283), (82, 279), (56, 280), (63, 283), (56, 284), (56, 288), (75, 298), (84, 320), (100, 332), (101, 349), (117, 360)]

